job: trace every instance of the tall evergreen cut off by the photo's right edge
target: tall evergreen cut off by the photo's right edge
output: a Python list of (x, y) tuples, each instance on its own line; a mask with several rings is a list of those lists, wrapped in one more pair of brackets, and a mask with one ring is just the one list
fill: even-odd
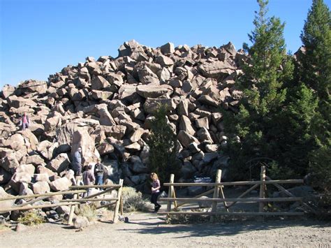
[(317, 148), (311, 152), (310, 171), (315, 185), (331, 190), (331, 15), (323, 0), (313, 0), (301, 34), (304, 52), (298, 61), (300, 80), (318, 96), (318, 108), (311, 122)]

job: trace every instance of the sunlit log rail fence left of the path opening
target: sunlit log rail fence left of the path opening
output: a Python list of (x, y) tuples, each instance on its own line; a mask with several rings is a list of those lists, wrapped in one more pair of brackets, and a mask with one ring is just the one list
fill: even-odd
[[(103, 189), (100, 192), (96, 194), (92, 194), (89, 196), (83, 196), (80, 198), (81, 195), (87, 192), (87, 189), (91, 188), (99, 188)], [(115, 211), (113, 215), (113, 223), (116, 223), (118, 220), (118, 212), (121, 211), (121, 214), (123, 214), (123, 199), (122, 199), (122, 188), (123, 188), (123, 180), (119, 180), (119, 184), (107, 184), (107, 185), (75, 185), (69, 187), (69, 190), (67, 191), (57, 191), (57, 192), (50, 192), (45, 194), (32, 194), (27, 196), (7, 196), (2, 197), (0, 200), (18, 200), (18, 199), (24, 199), (27, 200), (26, 203), (22, 203), (20, 205), (14, 205), (12, 207), (8, 208), (0, 208), (0, 214), (10, 211), (23, 211), (23, 210), (32, 210), (37, 208), (45, 208), (45, 207), (57, 207), (57, 206), (71, 206), (71, 210), (69, 213), (69, 220), (68, 224), (73, 224), (73, 213), (75, 211), (76, 205), (81, 205), (82, 203), (92, 202), (92, 201), (110, 201), (110, 203), (101, 205), (96, 207), (96, 209), (99, 209), (101, 207), (108, 207), (110, 205), (115, 205)], [(105, 193), (108, 193), (109, 191), (117, 190), (117, 197), (116, 198), (95, 198), (96, 196), (102, 196)], [(43, 205), (31, 205), (32, 203), (36, 203), (40, 200), (45, 200), (46, 198), (49, 198), (50, 196), (59, 196), (59, 195), (66, 195), (71, 194), (73, 195), (72, 199), (64, 199), (59, 200), (59, 203), (52, 203), (52, 204), (43, 204)], [(29, 200), (28, 200), (29, 199)]]

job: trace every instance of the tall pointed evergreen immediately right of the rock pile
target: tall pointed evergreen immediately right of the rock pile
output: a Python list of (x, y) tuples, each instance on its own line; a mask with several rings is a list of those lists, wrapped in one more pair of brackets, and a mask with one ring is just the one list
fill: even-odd
[[(244, 44), (250, 61), (243, 66), (243, 75), (236, 81), (243, 91), (240, 111), (233, 116), (226, 112), (225, 126), (233, 136), (229, 139), (229, 155), (234, 168), (244, 173), (247, 161), (279, 157), (279, 121), (277, 113), (286, 99), (284, 82), (291, 80), (293, 64), (286, 55), (284, 23), (267, 17), (267, 0), (258, 0), (260, 10), (249, 34), (252, 45)], [(237, 136), (240, 141), (238, 142)], [(238, 170), (239, 171), (239, 170)]]

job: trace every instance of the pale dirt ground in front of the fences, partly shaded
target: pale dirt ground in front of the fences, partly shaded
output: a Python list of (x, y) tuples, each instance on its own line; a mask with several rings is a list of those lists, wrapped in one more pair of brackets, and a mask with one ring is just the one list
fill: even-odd
[(77, 232), (63, 224), (1, 231), (1, 247), (331, 247), (331, 225), (322, 221), (233, 221), (168, 225), (152, 213), (130, 222), (98, 221)]

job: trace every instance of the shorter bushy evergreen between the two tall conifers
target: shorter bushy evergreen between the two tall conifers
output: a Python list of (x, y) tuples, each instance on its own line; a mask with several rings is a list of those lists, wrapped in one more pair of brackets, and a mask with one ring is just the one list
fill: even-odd
[(304, 84), (288, 89), (284, 108), (277, 115), (277, 161), (293, 170), (294, 177), (307, 175), (309, 152), (315, 147), (311, 122), (317, 108), (314, 92)]

